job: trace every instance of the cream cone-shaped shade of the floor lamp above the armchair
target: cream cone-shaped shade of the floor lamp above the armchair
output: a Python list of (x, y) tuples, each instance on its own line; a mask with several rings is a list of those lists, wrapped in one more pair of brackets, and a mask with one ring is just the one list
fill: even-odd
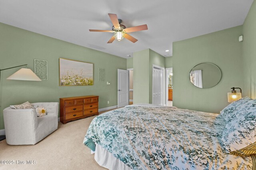
[(21, 68), (8, 78), (8, 80), (28, 80), (28, 81), (42, 81), (32, 70), (29, 68)]

